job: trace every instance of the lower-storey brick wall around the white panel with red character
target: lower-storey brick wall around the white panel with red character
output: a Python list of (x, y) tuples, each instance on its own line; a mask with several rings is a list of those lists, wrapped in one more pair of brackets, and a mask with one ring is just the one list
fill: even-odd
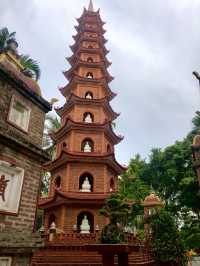
[(41, 165), (31, 157), (2, 144), (0, 144), (0, 160), (13, 161), (17, 167), (24, 169), (24, 182), (18, 214), (12, 216), (0, 212), (0, 223), (9, 228), (32, 230), (42, 170)]

